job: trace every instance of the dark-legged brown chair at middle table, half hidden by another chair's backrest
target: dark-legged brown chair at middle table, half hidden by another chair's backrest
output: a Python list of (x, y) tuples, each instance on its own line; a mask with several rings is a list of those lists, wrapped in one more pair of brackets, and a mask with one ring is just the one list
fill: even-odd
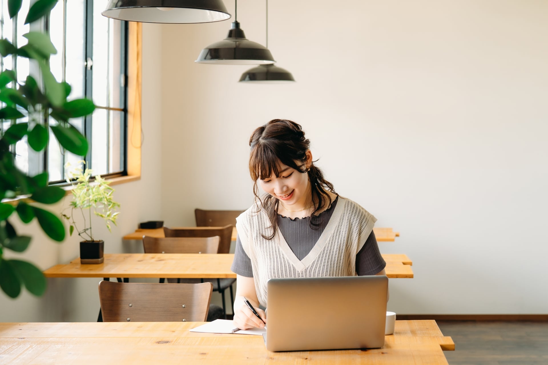
[[(225, 227), (190, 227), (190, 228), (169, 228), (164, 227), (165, 237), (211, 237), (220, 236), (219, 249), (217, 253), (229, 253), (230, 242), (232, 240), (232, 225), (227, 224)], [(225, 305), (225, 290), (230, 288), (230, 305), (232, 306), (232, 313), (234, 313), (234, 291), (232, 284), (236, 282), (236, 279), (232, 278), (217, 278), (217, 279), (201, 279), (206, 282), (213, 283), (213, 291), (221, 293), (222, 297), (222, 311), (226, 319), (226, 305)], [(180, 280), (179, 280), (180, 281)]]

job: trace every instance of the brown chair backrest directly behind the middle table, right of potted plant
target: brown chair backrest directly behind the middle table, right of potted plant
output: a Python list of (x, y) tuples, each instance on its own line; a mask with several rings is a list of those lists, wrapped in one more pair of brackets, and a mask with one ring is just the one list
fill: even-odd
[(221, 237), (142, 236), (145, 253), (217, 253)]

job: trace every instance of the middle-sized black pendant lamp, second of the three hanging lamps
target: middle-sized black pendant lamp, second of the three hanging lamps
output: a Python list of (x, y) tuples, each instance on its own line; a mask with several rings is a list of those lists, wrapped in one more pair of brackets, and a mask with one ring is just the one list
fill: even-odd
[(268, 48), (246, 39), (246, 34), (239, 27), (237, 0), (235, 13), (229, 35), (204, 48), (195, 62), (224, 65), (268, 65), (276, 62)]

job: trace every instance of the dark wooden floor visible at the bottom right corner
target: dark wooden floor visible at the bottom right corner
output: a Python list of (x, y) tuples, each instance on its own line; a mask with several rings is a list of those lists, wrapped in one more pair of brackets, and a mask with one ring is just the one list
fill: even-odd
[(449, 365), (548, 365), (548, 322), (437, 321)]

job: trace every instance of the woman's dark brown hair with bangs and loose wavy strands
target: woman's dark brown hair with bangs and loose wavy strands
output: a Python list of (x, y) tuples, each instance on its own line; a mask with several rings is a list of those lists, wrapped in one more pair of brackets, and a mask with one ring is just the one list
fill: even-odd
[(271, 240), (276, 233), (279, 200), (270, 194), (266, 194), (261, 200), (257, 180), (269, 178), (272, 174), (279, 177), (279, 163), (301, 173), (308, 172), (314, 207), (310, 227), (317, 229), (320, 223), (318, 222), (319, 218), (315, 216), (316, 212), (325, 205), (327, 200), (329, 200), (329, 204), (332, 203), (326, 189), (333, 193), (335, 190), (333, 184), (323, 178), (322, 171), (318, 167), (311, 164), (310, 169), (306, 169), (306, 151), (310, 148), (310, 140), (305, 138), (305, 132), (302, 131), (301, 126), (291, 120), (273, 119), (253, 131), (249, 138), (249, 146), (251, 147), (249, 173), (255, 182), (253, 186), (255, 201), (261, 202), (261, 208), (265, 209), (272, 223), (270, 227), (272, 233), (267, 236), (263, 235), (263, 237)]

